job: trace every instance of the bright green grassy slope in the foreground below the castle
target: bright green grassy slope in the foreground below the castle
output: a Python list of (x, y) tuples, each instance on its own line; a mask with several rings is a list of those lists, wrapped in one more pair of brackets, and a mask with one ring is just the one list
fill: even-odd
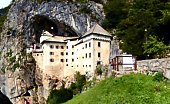
[(143, 74), (111, 77), (66, 104), (170, 104), (170, 83)]

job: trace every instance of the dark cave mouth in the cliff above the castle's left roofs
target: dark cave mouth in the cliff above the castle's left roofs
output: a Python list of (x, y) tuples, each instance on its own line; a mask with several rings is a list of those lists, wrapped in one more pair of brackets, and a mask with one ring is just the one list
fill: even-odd
[(50, 20), (47, 16), (35, 15), (31, 23), (31, 33), (36, 42), (39, 42), (43, 31), (48, 31), (54, 36), (77, 37), (78, 34), (70, 26), (58, 20)]

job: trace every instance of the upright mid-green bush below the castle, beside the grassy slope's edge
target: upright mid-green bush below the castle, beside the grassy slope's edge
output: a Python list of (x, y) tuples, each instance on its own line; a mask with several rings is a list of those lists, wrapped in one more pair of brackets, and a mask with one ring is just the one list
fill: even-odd
[(81, 75), (80, 72), (75, 74), (75, 83), (72, 83), (70, 89), (73, 91), (73, 94), (76, 95), (81, 93), (83, 86), (86, 84), (85, 75)]

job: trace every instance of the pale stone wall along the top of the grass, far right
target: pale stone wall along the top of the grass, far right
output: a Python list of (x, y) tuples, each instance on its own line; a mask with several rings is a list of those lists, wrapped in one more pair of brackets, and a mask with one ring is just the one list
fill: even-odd
[(170, 58), (137, 61), (137, 69), (140, 72), (161, 71), (170, 79)]

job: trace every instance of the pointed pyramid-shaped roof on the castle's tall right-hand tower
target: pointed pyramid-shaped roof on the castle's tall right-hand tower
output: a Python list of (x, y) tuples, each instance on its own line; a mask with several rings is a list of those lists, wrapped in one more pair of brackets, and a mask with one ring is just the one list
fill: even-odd
[(89, 31), (87, 31), (83, 37), (90, 34), (100, 34), (105, 36), (111, 36), (105, 29), (103, 29), (99, 24), (95, 24)]

